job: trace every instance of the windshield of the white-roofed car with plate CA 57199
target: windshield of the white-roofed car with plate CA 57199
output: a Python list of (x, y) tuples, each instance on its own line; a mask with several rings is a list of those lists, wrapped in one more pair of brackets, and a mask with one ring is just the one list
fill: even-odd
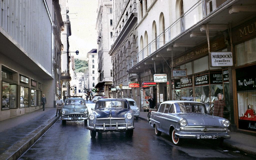
[(197, 103), (174, 103), (174, 106), (176, 108), (176, 113), (182, 113), (182, 112), (207, 113), (205, 111), (205, 107), (204, 107), (203, 104), (197, 104)]

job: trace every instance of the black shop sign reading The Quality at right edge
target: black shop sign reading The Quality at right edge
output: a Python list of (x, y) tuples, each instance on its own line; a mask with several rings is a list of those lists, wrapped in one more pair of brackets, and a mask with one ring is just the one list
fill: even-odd
[(256, 65), (236, 69), (237, 92), (256, 90)]

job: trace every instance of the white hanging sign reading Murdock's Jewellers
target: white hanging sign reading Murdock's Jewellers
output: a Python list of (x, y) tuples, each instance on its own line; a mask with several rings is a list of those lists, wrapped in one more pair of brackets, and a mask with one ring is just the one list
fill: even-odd
[(232, 52), (211, 52), (209, 58), (211, 67), (233, 66)]

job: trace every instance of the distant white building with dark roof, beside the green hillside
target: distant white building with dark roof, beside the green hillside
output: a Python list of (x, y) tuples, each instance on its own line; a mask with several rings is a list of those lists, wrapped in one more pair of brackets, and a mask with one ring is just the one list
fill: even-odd
[(98, 53), (97, 49), (92, 49), (87, 53), (88, 60), (88, 91), (90, 92), (97, 84), (98, 74)]

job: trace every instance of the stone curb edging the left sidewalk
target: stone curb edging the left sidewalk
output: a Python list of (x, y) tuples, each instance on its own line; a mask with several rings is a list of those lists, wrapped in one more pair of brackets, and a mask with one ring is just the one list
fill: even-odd
[(58, 117), (53, 117), (41, 125), (35, 131), (30, 133), (27, 137), (14, 144), (7, 151), (1, 154), (1, 159), (14, 160), (18, 159), (24, 152), (28, 150), (56, 121)]

